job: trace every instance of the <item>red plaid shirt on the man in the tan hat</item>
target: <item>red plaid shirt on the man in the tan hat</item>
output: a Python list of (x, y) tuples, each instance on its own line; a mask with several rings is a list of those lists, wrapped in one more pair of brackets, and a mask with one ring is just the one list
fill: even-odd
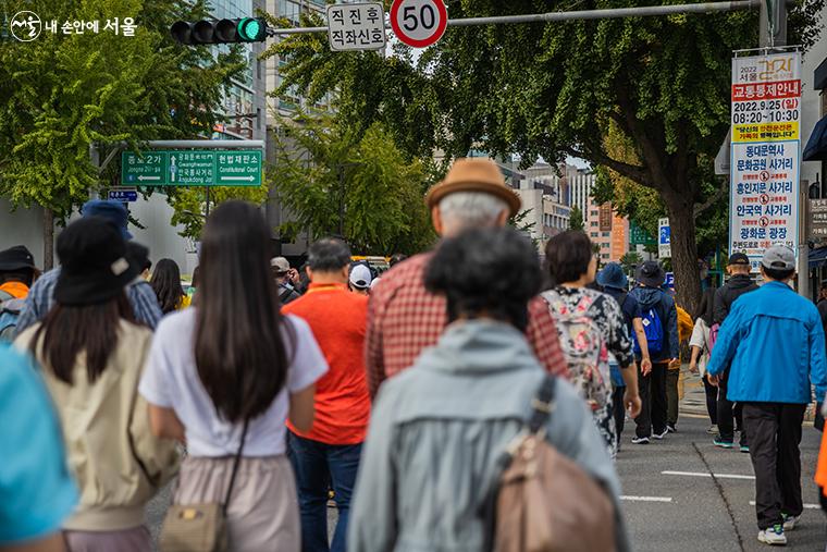
[[(432, 255), (417, 255), (394, 267), (371, 291), (365, 343), (371, 397), (382, 381), (412, 366), (423, 348), (435, 345), (447, 324), (445, 299), (424, 286)], [(557, 328), (542, 297), (529, 304), (526, 333), (540, 364), (554, 375), (567, 377)]]

